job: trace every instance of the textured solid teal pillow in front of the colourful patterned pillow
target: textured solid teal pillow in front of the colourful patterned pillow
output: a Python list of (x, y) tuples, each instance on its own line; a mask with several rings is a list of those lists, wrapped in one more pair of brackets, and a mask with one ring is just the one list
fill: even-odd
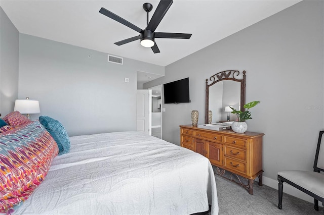
[(57, 143), (59, 147), (58, 155), (66, 154), (70, 151), (69, 135), (59, 121), (48, 116), (40, 116), (39, 122), (46, 128)]

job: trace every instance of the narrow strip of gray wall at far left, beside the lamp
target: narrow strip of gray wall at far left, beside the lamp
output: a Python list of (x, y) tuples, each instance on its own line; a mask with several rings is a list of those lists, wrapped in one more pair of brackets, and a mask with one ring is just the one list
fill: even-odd
[(14, 110), (18, 98), (19, 32), (0, 7), (0, 113)]

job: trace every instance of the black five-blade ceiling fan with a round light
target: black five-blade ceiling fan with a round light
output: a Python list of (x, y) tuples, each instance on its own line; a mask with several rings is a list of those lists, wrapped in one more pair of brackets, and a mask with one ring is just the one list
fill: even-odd
[(170, 6), (172, 5), (173, 1), (169, 0), (161, 0), (151, 18), (148, 22), (148, 13), (152, 10), (153, 6), (150, 3), (144, 3), (143, 9), (146, 12), (146, 28), (140, 29), (136, 25), (130, 23), (129, 21), (117, 16), (116, 14), (106, 10), (105, 8), (101, 8), (99, 13), (123, 24), (129, 28), (140, 33), (138, 36), (134, 36), (128, 39), (120, 40), (115, 42), (116, 45), (123, 45), (135, 40), (140, 39), (141, 45), (144, 47), (151, 47), (154, 53), (159, 53), (160, 50), (158, 49), (154, 38), (173, 38), (173, 39), (189, 39), (191, 34), (184, 34), (184, 33), (164, 33), (164, 32), (155, 32), (156, 27), (163, 19), (164, 15), (169, 10)]

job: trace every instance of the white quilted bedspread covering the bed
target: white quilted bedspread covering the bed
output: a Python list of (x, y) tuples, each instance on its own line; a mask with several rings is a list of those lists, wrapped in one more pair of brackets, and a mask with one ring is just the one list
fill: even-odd
[(218, 214), (209, 160), (138, 132), (70, 138), (15, 214)]

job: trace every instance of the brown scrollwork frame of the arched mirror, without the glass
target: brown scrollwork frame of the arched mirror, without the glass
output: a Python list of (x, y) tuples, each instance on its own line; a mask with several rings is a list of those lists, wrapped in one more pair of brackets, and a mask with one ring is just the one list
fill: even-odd
[(213, 86), (217, 82), (224, 81), (224, 80), (231, 80), (240, 82), (240, 110), (243, 112), (244, 104), (245, 104), (245, 87), (246, 87), (246, 71), (242, 72), (243, 77), (242, 79), (238, 79), (240, 72), (237, 70), (226, 70), (223, 72), (216, 73), (215, 75), (210, 77), (211, 83), (208, 84), (208, 79), (206, 79), (206, 109), (205, 109), (205, 124), (208, 124), (208, 111), (209, 111), (209, 87)]

